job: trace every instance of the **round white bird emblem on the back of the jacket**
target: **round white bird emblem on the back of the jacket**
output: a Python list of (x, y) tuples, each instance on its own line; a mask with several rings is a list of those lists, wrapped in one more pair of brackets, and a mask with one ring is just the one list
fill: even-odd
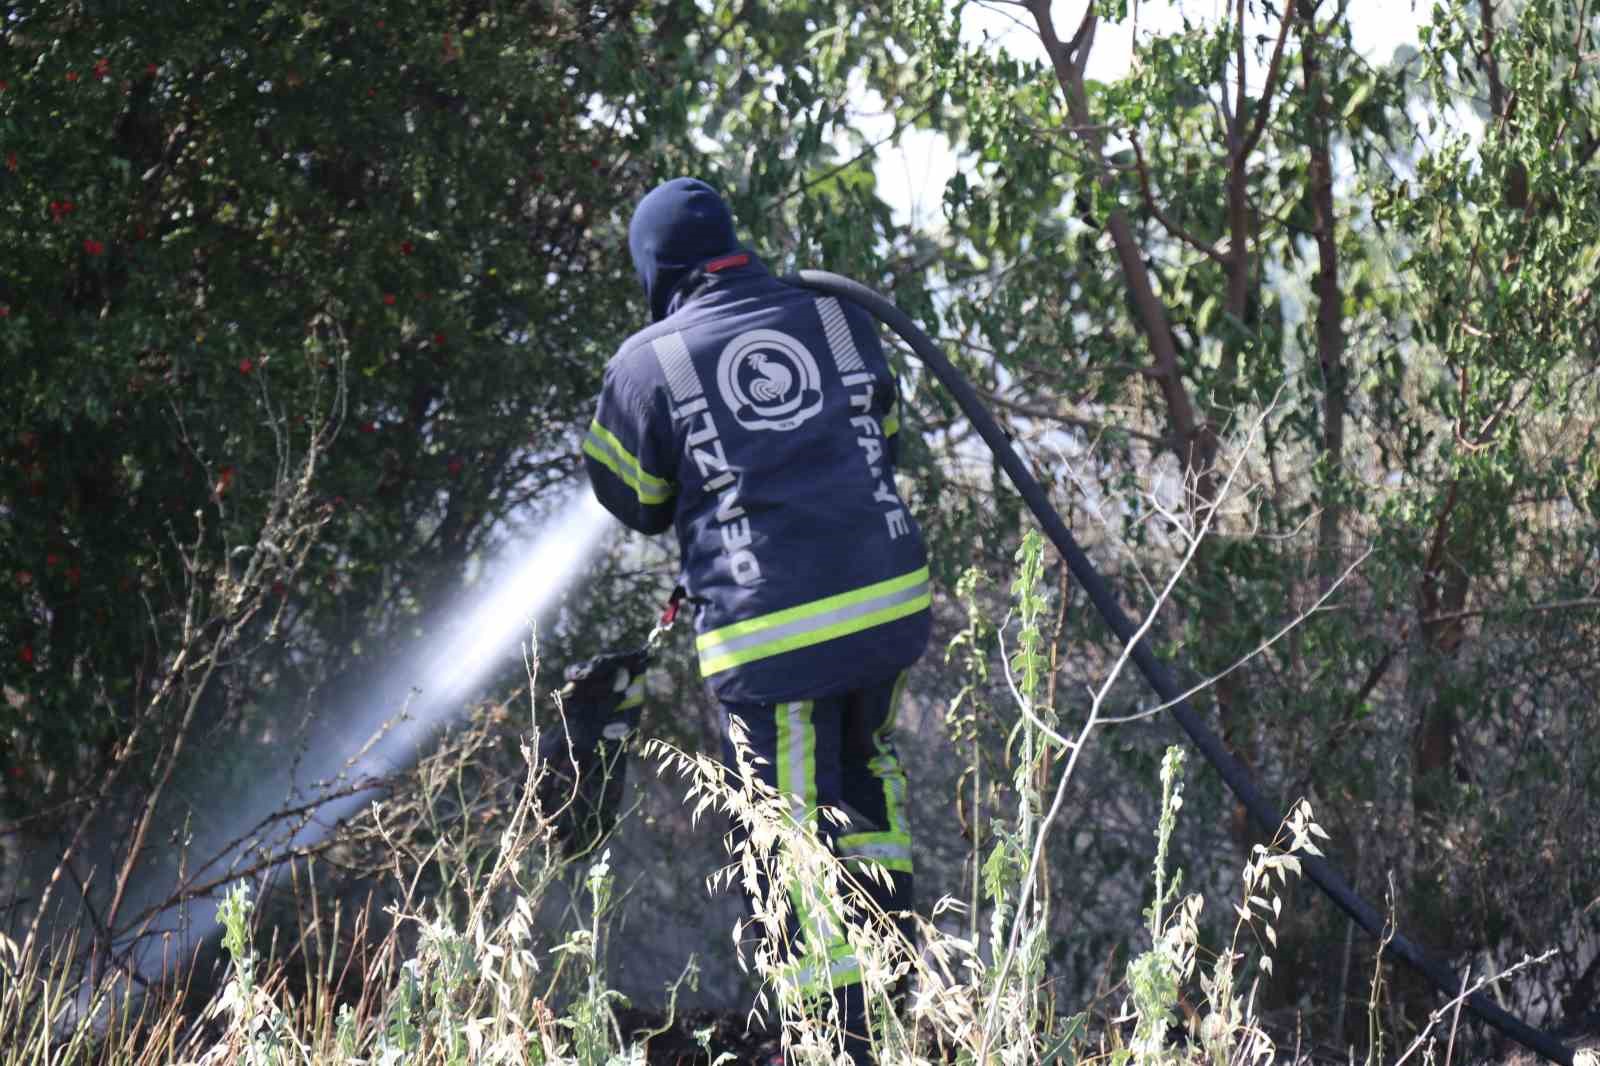
[(778, 330), (747, 330), (717, 362), (722, 400), (746, 429), (789, 431), (822, 410), (822, 376), (806, 346)]

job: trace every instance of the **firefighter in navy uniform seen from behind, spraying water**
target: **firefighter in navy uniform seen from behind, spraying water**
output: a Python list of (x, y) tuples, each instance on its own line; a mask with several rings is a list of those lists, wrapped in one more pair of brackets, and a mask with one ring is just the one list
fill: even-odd
[[(742, 720), (768, 784), (811, 812), (890, 912), (912, 892), (906, 671), (928, 643), (928, 559), (894, 487), (896, 381), (861, 309), (784, 283), (734, 237), (706, 182), (640, 200), (629, 251), (653, 325), (605, 371), (582, 451), (629, 528), (677, 533), (701, 674)], [(848, 816), (834, 826), (819, 805)], [(814, 917), (814, 916), (813, 916)], [(794, 916), (798, 927), (808, 916)], [(834, 938), (797, 981), (830, 989), (866, 1061), (861, 976)]]

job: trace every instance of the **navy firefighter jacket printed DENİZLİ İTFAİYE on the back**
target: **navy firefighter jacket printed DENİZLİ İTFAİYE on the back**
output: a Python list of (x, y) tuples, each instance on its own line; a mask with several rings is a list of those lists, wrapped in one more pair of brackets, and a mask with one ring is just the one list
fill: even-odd
[(928, 560), (870, 317), (736, 245), (680, 272), (666, 293), (645, 279), (658, 322), (606, 367), (582, 445), (595, 496), (634, 530), (677, 528), (718, 699), (893, 677), (928, 643)]

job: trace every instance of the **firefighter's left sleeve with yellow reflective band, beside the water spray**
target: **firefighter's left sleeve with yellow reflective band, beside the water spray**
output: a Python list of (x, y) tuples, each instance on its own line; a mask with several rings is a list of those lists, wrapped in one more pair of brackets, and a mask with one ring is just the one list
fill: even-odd
[(584, 466), (595, 498), (622, 525), (640, 533), (670, 528), (678, 495), (670, 445), (662, 440), (666, 427), (651, 415), (651, 405), (640, 400), (613, 365), (606, 368), (605, 387), (584, 437)]

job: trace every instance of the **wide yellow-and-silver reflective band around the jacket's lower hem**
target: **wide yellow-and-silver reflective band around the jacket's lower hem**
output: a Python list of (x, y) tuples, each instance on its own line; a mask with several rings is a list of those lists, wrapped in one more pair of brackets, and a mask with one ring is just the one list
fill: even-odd
[(928, 568), (712, 629), (694, 640), (701, 674), (710, 677), (755, 659), (846, 637), (915, 615), (930, 603)]

